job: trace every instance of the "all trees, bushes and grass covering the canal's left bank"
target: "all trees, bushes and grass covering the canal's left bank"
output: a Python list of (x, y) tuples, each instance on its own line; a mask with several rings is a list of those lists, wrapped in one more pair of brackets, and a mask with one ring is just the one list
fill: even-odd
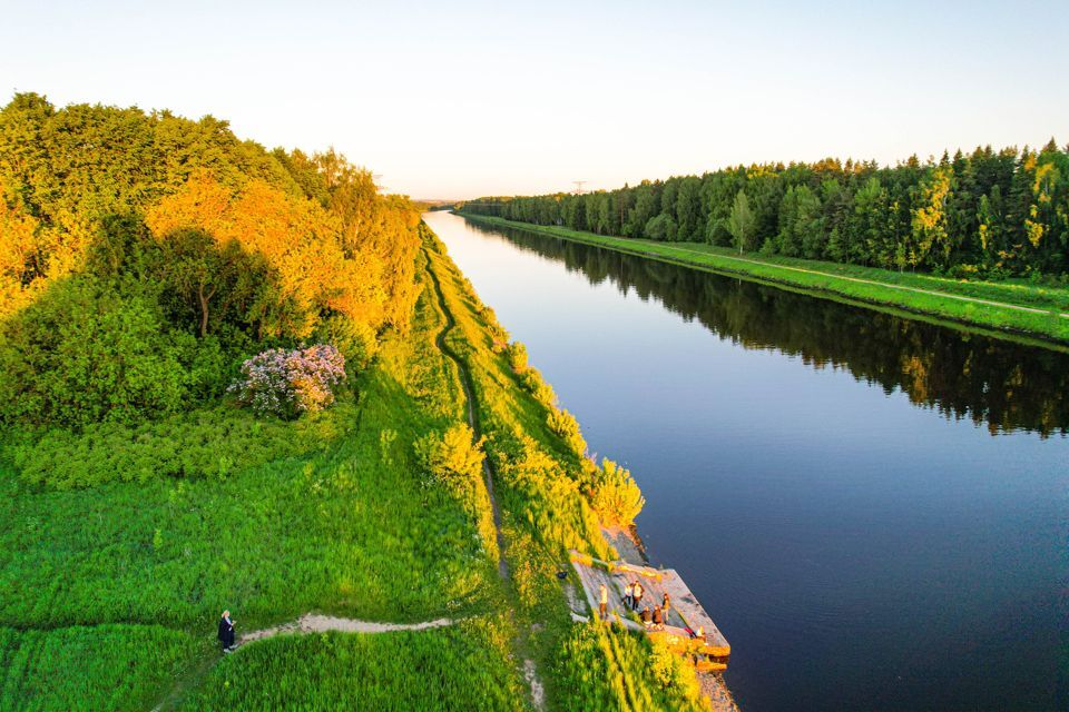
[(18, 95), (0, 189), (0, 709), (708, 709), (572, 617), (638, 487), (369, 171)]

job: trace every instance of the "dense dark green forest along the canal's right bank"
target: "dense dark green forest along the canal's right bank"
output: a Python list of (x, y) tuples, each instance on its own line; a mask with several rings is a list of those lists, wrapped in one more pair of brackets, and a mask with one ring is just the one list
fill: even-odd
[(736, 166), (586, 195), (461, 209), (598, 235), (954, 276), (1069, 274), (1069, 147), (991, 147), (894, 167), (825, 159)]

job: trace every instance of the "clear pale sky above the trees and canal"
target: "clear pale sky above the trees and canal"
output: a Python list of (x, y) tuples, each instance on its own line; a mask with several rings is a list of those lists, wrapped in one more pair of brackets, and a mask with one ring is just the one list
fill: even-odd
[(1069, 2), (0, 2), (0, 92), (333, 145), (389, 190), (1069, 141)]

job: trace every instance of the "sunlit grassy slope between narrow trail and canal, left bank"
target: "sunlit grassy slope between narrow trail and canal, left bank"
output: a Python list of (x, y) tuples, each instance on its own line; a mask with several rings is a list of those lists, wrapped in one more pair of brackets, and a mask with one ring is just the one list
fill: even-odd
[[(611, 555), (579, 493), (580, 455), (549, 427), (556, 406), (537, 398), (513, 373), (500, 348), (508, 335), (433, 236), (428, 257), (457, 320), (451, 345), (472, 375), (488, 437), (520, 646), (538, 661), (550, 705), (621, 712), (703, 709), (693, 670), (659, 655), (645, 635), (572, 623), (561, 586), (578, 582), (573, 573), (566, 584), (556, 576), (570, 572), (566, 550)], [(655, 660), (667, 666), (669, 686), (650, 673)]]

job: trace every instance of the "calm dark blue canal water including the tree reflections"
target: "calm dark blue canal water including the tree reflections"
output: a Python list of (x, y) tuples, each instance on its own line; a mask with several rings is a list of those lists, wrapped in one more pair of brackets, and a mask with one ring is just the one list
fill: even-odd
[(428, 214), (762, 710), (1066, 710), (1069, 356)]

